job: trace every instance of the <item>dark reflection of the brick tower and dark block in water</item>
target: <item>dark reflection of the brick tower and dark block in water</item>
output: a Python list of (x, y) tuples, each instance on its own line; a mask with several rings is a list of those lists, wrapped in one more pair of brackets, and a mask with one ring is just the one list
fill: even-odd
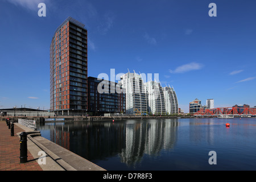
[[(124, 124), (70, 122), (51, 127), (51, 141), (88, 160), (117, 155), (124, 146)], [(68, 136), (68, 137), (66, 137)]]

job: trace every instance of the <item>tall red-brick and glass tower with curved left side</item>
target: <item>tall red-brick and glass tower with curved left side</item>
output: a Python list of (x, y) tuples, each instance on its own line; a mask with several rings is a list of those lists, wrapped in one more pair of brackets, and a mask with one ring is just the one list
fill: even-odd
[(69, 17), (57, 27), (50, 47), (51, 111), (84, 114), (87, 109), (87, 30)]

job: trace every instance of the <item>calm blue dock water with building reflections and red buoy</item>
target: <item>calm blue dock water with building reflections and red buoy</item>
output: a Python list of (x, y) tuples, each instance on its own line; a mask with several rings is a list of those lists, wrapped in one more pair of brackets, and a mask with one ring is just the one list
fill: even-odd
[(256, 118), (51, 122), (38, 130), (107, 170), (256, 170)]

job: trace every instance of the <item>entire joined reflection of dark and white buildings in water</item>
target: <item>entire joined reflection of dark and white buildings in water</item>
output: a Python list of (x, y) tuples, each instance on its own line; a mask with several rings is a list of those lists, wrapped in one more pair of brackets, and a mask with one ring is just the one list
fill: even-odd
[[(47, 124), (47, 123), (46, 123)], [(139, 163), (144, 154), (158, 155), (176, 143), (175, 119), (123, 122), (71, 122), (48, 127), (51, 140), (94, 161), (119, 155), (122, 163)], [(42, 127), (41, 127), (42, 129)]]

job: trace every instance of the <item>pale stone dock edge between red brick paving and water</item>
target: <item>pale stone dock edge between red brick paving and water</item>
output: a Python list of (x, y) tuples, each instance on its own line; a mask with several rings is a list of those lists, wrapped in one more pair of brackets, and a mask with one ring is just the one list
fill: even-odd
[[(15, 123), (15, 125), (28, 134), (27, 148), (37, 162), (42, 157), (39, 152), (45, 152), (46, 163), (39, 164), (44, 171), (106, 171), (89, 160), (41, 137), (40, 131), (31, 130), (19, 123)], [(17, 135), (19, 134), (17, 133)]]

